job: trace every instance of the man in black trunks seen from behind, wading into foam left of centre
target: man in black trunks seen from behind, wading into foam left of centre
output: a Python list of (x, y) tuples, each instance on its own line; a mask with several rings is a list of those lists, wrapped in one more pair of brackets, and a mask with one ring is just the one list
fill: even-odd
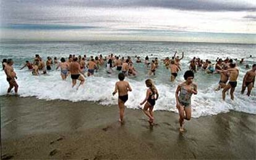
[[(71, 79), (72, 79), (72, 87), (75, 86), (75, 84), (77, 83), (77, 79), (80, 82), (79, 86), (81, 86), (83, 84), (83, 82), (85, 82), (85, 79), (83, 78), (83, 76), (85, 76), (82, 72), (82, 70), (80, 69), (80, 65), (79, 63), (77, 62), (77, 57), (75, 57), (74, 59), (74, 62), (72, 62), (70, 65), (69, 65), (69, 71), (70, 71), (70, 74), (71, 74)], [(80, 75), (83, 74), (83, 76)], [(77, 87), (77, 89), (79, 89), (79, 86)]]

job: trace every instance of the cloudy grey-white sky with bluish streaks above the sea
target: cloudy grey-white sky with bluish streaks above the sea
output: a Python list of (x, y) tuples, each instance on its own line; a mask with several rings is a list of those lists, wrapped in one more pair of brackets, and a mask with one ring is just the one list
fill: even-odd
[(256, 1), (1, 0), (1, 41), (256, 44)]

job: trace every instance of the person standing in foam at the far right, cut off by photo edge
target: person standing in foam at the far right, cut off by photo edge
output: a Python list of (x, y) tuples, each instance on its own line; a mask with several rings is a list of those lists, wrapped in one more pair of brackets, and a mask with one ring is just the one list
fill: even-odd
[(244, 75), (244, 80), (242, 81), (242, 91), (241, 93), (244, 94), (244, 90), (247, 87), (247, 95), (250, 96), (250, 92), (252, 87), (254, 87), (255, 76), (256, 76), (256, 64), (252, 65), (252, 70), (247, 71)]

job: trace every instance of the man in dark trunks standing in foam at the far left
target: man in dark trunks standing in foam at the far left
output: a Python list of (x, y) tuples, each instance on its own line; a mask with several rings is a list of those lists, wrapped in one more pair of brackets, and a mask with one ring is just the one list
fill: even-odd
[(4, 73), (6, 73), (6, 80), (9, 82), (9, 88), (7, 90), (7, 94), (9, 94), (14, 87), (15, 94), (18, 93), (18, 84), (15, 81), (17, 79), (16, 73), (14, 72), (14, 68), (12, 65), (14, 64), (12, 59), (7, 60), (7, 64), (4, 67)]

